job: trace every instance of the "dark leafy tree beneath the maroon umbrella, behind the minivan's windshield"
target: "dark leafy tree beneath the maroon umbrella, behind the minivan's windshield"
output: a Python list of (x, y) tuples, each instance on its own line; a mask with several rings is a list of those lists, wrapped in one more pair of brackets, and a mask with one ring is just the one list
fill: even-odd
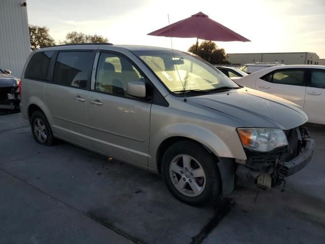
[[(188, 48), (191, 53), (196, 53), (196, 44), (193, 44)], [(198, 46), (198, 53), (200, 57), (209, 62), (210, 64), (230, 64), (226, 60), (226, 54), (223, 48), (218, 48), (212, 41), (203, 41)]]

